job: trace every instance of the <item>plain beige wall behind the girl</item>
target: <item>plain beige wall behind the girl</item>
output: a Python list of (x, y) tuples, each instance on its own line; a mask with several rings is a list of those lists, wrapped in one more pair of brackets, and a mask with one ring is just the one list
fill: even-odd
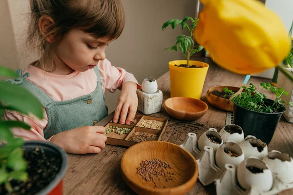
[[(0, 64), (13, 69), (25, 68), (36, 58), (24, 52), (29, 0), (0, 0)], [(126, 25), (121, 37), (106, 48), (112, 65), (134, 74), (139, 83), (144, 78), (159, 78), (168, 71), (168, 61), (183, 59), (181, 53), (163, 52), (172, 46), (180, 27), (162, 31), (164, 22), (195, 15), (195, 0), (122, 0)], [(109, 112), (116, 107), (119, 92), (106, 92)]]

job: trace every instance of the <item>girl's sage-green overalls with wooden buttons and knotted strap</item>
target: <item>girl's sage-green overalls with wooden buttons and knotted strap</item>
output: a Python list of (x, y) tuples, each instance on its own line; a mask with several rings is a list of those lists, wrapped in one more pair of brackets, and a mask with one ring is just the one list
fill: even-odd
[(65, 101), (53, 101), (39, 87), (25, 80), (29, 73), (22, 75), (21, 69), (17, 71), (19, 78), (7, 81), (25, 87), (40, 100), (48, 116), (48, 125), (44, 129), (44, 137), (48, 139), (63, 131), (94, 125), (108, 115), (99, 69), (96, 66), (94, 70), (98, 79), (96, 89), (88, 95)]

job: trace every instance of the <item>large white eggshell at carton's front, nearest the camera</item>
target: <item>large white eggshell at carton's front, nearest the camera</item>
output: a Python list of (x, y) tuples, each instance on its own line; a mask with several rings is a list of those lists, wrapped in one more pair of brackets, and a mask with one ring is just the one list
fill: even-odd
[[(248, 167), (256, 167), (262, 171), (252, 173)], [(263, 192), (272, 188), (273, 177), (271, 169), (258, 158), (247, 158), (237, 168), (237, 180), (243, 189), (249, 189), (252, 185), (257, 186)]]

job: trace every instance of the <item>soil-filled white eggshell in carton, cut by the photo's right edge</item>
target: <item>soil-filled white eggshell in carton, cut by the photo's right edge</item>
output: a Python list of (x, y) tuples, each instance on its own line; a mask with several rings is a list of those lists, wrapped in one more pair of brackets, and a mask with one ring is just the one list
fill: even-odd
[(279, 178), (288, 183), (293, 182), (293, 158), (288, 154), (271, 151), (263, 161)]

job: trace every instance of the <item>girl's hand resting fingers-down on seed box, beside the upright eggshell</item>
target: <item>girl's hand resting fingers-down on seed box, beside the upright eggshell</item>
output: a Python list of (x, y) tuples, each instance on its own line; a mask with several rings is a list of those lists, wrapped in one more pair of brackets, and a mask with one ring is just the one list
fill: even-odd
[[(118, 122), (120, 116), (120, 124), (130, 124), (130, 122), (134, 119), (137, 106), (137, 85), (134, 82), (126, 82), (122, 86), (122, 90), (119, 96), (118, 104), (115, 110), (115, 115), (113, 118), (113, 122)], [(127, 113), (129, 111), (128, 117), (126, 119)]]

